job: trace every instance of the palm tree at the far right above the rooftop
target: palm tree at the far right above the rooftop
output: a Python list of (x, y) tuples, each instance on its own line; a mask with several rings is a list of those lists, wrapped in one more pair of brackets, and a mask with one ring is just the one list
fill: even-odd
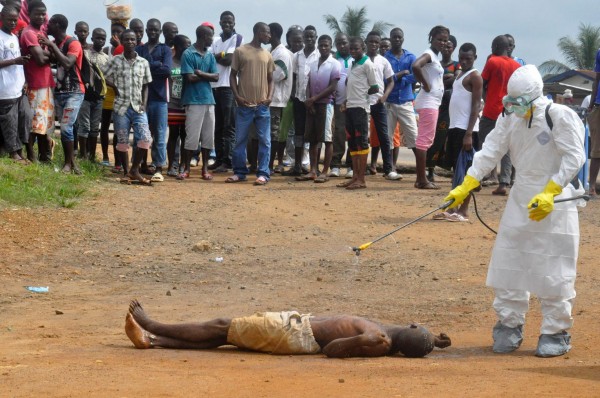
[(577, 39), (568, 36), (558, 40), (558, 49), (566, 63), (551, 59), (539, 69), (543, 75), (559, 74), (571, 69), (594, 69), (596, 52), (600, 48), (600, 27), (580, 24)]

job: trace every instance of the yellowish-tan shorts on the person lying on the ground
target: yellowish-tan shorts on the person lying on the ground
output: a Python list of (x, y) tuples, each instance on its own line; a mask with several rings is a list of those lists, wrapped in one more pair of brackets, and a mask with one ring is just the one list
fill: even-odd
[(321, 347), (310, 326), (310, 315), (296, 311), (257, 312), (233, 318), (227, 343), (271, 354), (316, 354)]

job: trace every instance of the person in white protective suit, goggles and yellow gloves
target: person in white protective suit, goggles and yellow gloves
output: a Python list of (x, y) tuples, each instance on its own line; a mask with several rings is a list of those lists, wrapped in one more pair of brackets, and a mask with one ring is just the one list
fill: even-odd
[[(517, 69), (508, 82), (505, 112), (475, 154), (462, 185), (446, 197), (460, 205), (479, 181), (510, 151), (516, 179), (500, 221), (487, 285), (495, 289), (498, 322), (494, 352), (519, 348), (529, 295), (541, 301), (542, 326), (536, 356), (563, 355), (571, 349), (575, 276), (579, 248), (577, 205), (554, 198), (583, 194), (572, 180), (585, 162), (584, 127), (575, 112), (551, 104), (533, 65)], [(549, 125), (548, 112), (552, 127)], [(577, 188), (576, 188), (577, 187)]]

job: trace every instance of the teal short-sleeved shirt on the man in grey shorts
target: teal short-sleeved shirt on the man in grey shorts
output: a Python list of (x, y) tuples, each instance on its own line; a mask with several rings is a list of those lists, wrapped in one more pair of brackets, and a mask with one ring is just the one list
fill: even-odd
[(206, 51), (200, 54), (193, 45), (183, 52), (181, 56), (181, 75), (183, 76), (183, 105), (214, 105), (215, 97), (208, 80), (196, 83), (187, 81), (187, 76), (200, 70), (206, 73), (217, 73), (217, 61), (212, 53)]

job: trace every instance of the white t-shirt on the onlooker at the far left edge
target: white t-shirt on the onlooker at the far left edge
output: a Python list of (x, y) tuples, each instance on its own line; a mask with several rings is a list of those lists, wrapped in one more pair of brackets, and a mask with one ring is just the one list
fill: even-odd
[[(6, 61), (20, 56), (21, 49), (17, 36), (0, 30), (0, 60)], [(25, 85), (23, 65), (0, 68), (0, 99), (20, 98), (23, 95), (23, 85)]]

